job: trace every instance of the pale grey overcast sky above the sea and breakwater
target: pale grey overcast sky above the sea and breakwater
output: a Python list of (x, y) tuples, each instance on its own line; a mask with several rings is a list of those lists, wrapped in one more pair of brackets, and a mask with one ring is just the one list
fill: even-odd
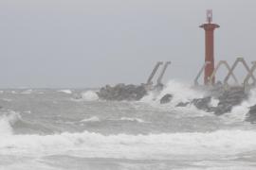
[(255, 0), (1, 0), (0, 87), (138, 84), (157, 60), (173, 62), (165, 80), (192, 82), (207, 8), (215, 59), (255, 59)]

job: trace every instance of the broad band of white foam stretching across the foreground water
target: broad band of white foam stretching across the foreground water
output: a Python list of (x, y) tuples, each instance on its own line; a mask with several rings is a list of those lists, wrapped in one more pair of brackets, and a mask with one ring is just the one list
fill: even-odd
[(86, 158), (219, 159), (255, 148), (256, 132), (252, 130), (108, 136), (84, 131), (46, 136), (7, 135), (0, 140), (1, 154), (67, 154)]

